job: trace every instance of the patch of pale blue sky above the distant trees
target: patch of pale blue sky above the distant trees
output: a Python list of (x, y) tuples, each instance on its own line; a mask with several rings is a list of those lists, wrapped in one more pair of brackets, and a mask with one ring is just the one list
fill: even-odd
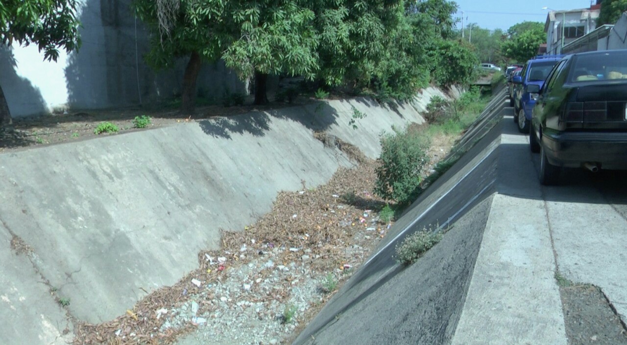
[[(522, 21), (540, 21), (544, 23), (547, 11), (551, 9), (589, 8), (590, 0), (454, 0), (460, 7), (455, 15), (461, 18), (464, 11), (464, 23), (477, 23), (481, 28), (507, 30)], [(594, 1), (596, 3), (596, 1)], [(466, 21), (468, 17), (468, 21)], [(461, 24), (458, 24), (461, 28)]]

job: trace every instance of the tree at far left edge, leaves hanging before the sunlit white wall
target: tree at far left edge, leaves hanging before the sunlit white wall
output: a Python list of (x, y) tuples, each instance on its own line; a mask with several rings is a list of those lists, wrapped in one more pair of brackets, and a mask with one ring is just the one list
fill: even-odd
[[(75, 0), (3, 0), (0, 1), (0, 42), (23, 46), (36, 44), (44, 59), (56, 61), (59, 49), (78, 49)], [(11, 112), (0, 87), (0, 129), (11, 125)]]

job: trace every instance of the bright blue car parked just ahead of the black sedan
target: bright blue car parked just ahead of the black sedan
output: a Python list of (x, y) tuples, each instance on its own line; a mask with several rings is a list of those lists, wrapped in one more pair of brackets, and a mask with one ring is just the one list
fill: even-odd
[(564, 55), (540, 55), (530, 59), (522, 68), (520, 76), (512, 78), (515, 84), (514, 95), (514, 122), (518, 124), (520, 133), (529, 133), (531, 110), (534, 108), (538, 92), (544, 85), (544, 80)]

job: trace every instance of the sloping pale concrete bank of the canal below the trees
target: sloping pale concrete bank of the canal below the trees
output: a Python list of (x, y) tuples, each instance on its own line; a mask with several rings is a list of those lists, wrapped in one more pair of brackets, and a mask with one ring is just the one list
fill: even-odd
[[(366, 98), (320, 102), (2, 153), (0, 233), (33, 249), (39, 276), (24, 286), (48, 281), (71, 299), (72, 316), (113, 319), (144, 291), (196, 269), (198, 252), (216, 249), (221, 229), (251, 224), (280, 190), (298, 190), (302, 180), (313, 187), (352, 166), (314, 131), (337, 135), (375, 158), (379, 134), (421, 123), (433, 95), (445, 96), (428, 88), (394, 107)], [(353, 106), (367, 114), (357, 129), (349, 125)], [(17, 265), (14, 258), (3, 262), (0, 276), (12, 279), (6, 267)], [(29, 295), (41, 291), (13, 288), (18, 291), (0, 286), (0, 296), (41, 297)]]

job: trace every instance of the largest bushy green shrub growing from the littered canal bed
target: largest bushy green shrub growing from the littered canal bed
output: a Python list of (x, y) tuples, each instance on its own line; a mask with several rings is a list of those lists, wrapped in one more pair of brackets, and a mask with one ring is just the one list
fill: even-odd
[(428, 142), (418, 131), (399, 131), (381, 138), (381, 165), (376, 168), (374, 192), (400, 205), (409, 205), (421, 192), (421, 170), (428, 163)]

